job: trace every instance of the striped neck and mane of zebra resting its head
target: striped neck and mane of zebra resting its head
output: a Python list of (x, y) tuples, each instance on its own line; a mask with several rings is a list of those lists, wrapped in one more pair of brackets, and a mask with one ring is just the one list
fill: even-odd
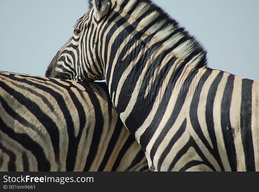
[[(187, 77), (192, 71), (205, 68), (206, 52), (156, 6), (147, 5), (147, 1), (142, 4), (134, 1), (138, 5), (128, 9), (129, 4), (125, 2), (112, 1), (109, 17), (101, 21), (105, 27), (99, 36), (102, 37), (100, 47), (104, 47), (100, 57), (112, 102), (134, 134), (140, 125), (130, 125), (127, 119), (146, 115), (159, 103), (158, 95), (170, 95), (179, 77)], [(140, 11), (144, 4), (149, 9)], [(162, 20), (157, 19), (160, 16)], [(145, 117), (141, 119), (145, 120)]]

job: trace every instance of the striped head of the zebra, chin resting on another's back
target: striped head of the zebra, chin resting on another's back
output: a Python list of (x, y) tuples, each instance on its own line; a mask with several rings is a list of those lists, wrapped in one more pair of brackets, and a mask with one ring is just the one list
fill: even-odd
[(97, 29), (109, 9), (108, 0), (89, 0), (89, 11), (74, 25), (71, 38), (49, 64), (46, 77), (69, 80), (103, 80), (103, 63), (99, 59)]

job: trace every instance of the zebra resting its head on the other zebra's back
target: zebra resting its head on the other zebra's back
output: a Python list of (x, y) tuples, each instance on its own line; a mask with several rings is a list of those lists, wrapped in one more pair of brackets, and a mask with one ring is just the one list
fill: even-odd
[(93, 0), (46, 77), (105, 79), (151, 171), (259, 171), (259, 82), (207, 67), (206, 50), (150, 0)]

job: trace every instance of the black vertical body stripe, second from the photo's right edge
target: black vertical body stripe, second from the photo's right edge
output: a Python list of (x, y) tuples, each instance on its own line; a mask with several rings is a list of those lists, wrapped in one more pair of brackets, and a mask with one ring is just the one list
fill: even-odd
[[(234, 75), (229, 75), (221, 101), (221, 129), (225, 143), (228, 161), (232, 171), (237, 171), (236, 150), (234, 144), (233, 128), (230, 123), (230, 104), (234, 88)], [(236, 104), (234, 104), (236, 105)]]

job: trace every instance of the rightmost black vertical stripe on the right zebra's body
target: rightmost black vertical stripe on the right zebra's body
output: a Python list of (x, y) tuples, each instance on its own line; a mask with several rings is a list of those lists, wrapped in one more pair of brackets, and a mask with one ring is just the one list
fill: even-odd
[(253, 82), (254, 81), (250, 79), (242, 80), (240, 130), (245, 153), (245, 166), (247, 171), (255, 171), (255, 153), (251, 130)]

